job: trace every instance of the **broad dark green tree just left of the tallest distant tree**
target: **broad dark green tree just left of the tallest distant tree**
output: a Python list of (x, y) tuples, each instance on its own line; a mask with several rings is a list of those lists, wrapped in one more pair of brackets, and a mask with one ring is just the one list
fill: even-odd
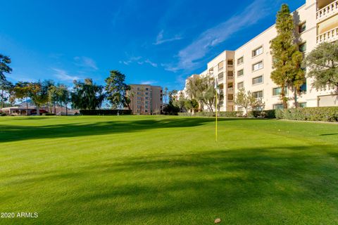
[(71, 93), (73, 108), (94, 110), (100, 108), (106, 98), (104, 86), (93, 83), (92, 79), (84, 79), (84, 82), (74, 81)]

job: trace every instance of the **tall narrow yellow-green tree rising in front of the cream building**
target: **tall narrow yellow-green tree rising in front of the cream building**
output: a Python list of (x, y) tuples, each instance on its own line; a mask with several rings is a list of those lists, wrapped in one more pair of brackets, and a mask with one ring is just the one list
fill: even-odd
[(294, 37), (294, 20), (287, 4), (282, 4), (282, 8), (277, 13), (276, 30), (277, 37), (270, 43), (271, 53), (273, 55), (273, 72), (271, 79), (282, 89), (280, 97), (284, 108), (287, 108), (289, 100), (285, 93), (285, 86), (292, 86), (296, 95), (304, 82), (305, 74), (301, 68), (303, 55), (298, 51)]

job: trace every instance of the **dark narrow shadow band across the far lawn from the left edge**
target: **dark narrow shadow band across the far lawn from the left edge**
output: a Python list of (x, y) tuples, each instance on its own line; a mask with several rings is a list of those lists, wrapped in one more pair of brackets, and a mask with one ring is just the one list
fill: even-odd
[[(27, 120), (27, 119), (25, 119)], [(243, 119), (219, 119), (219, 121)], [(51, 139), (90, 136), (113, 133), (136, 132), (148, 129), (197, 127), (215, 122), (213, 118), (171, 118), (162, 120), (114, 120), (105, 122), (77, 122), (44, 126), (0, 125), (0, 143), (27, 139)]]

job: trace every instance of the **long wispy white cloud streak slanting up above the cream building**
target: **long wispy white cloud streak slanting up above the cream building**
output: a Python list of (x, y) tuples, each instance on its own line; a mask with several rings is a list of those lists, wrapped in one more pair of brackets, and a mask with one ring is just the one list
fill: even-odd
[(165, 70), (173, 72), (193, 70), (196, 66), (199, 66), (199, 60), (204, 58), (214, 46), (227, 40), (239, 30), (243, 30), (269, 15), (268, 8), (264, 8), (264, 6), (270, 6), (267, 0), (253, 1), (241, 13), (233, 15), (225, 22), (204, 31), (189, 46), (179, 51), (178, 63), (164, 64)]

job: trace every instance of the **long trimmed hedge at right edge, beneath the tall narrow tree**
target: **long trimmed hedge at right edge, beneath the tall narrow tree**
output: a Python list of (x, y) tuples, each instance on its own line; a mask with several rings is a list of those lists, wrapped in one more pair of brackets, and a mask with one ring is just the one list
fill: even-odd
[(276, 110), (277, 119), (338, 122), (338, 107), (290, 108)]

